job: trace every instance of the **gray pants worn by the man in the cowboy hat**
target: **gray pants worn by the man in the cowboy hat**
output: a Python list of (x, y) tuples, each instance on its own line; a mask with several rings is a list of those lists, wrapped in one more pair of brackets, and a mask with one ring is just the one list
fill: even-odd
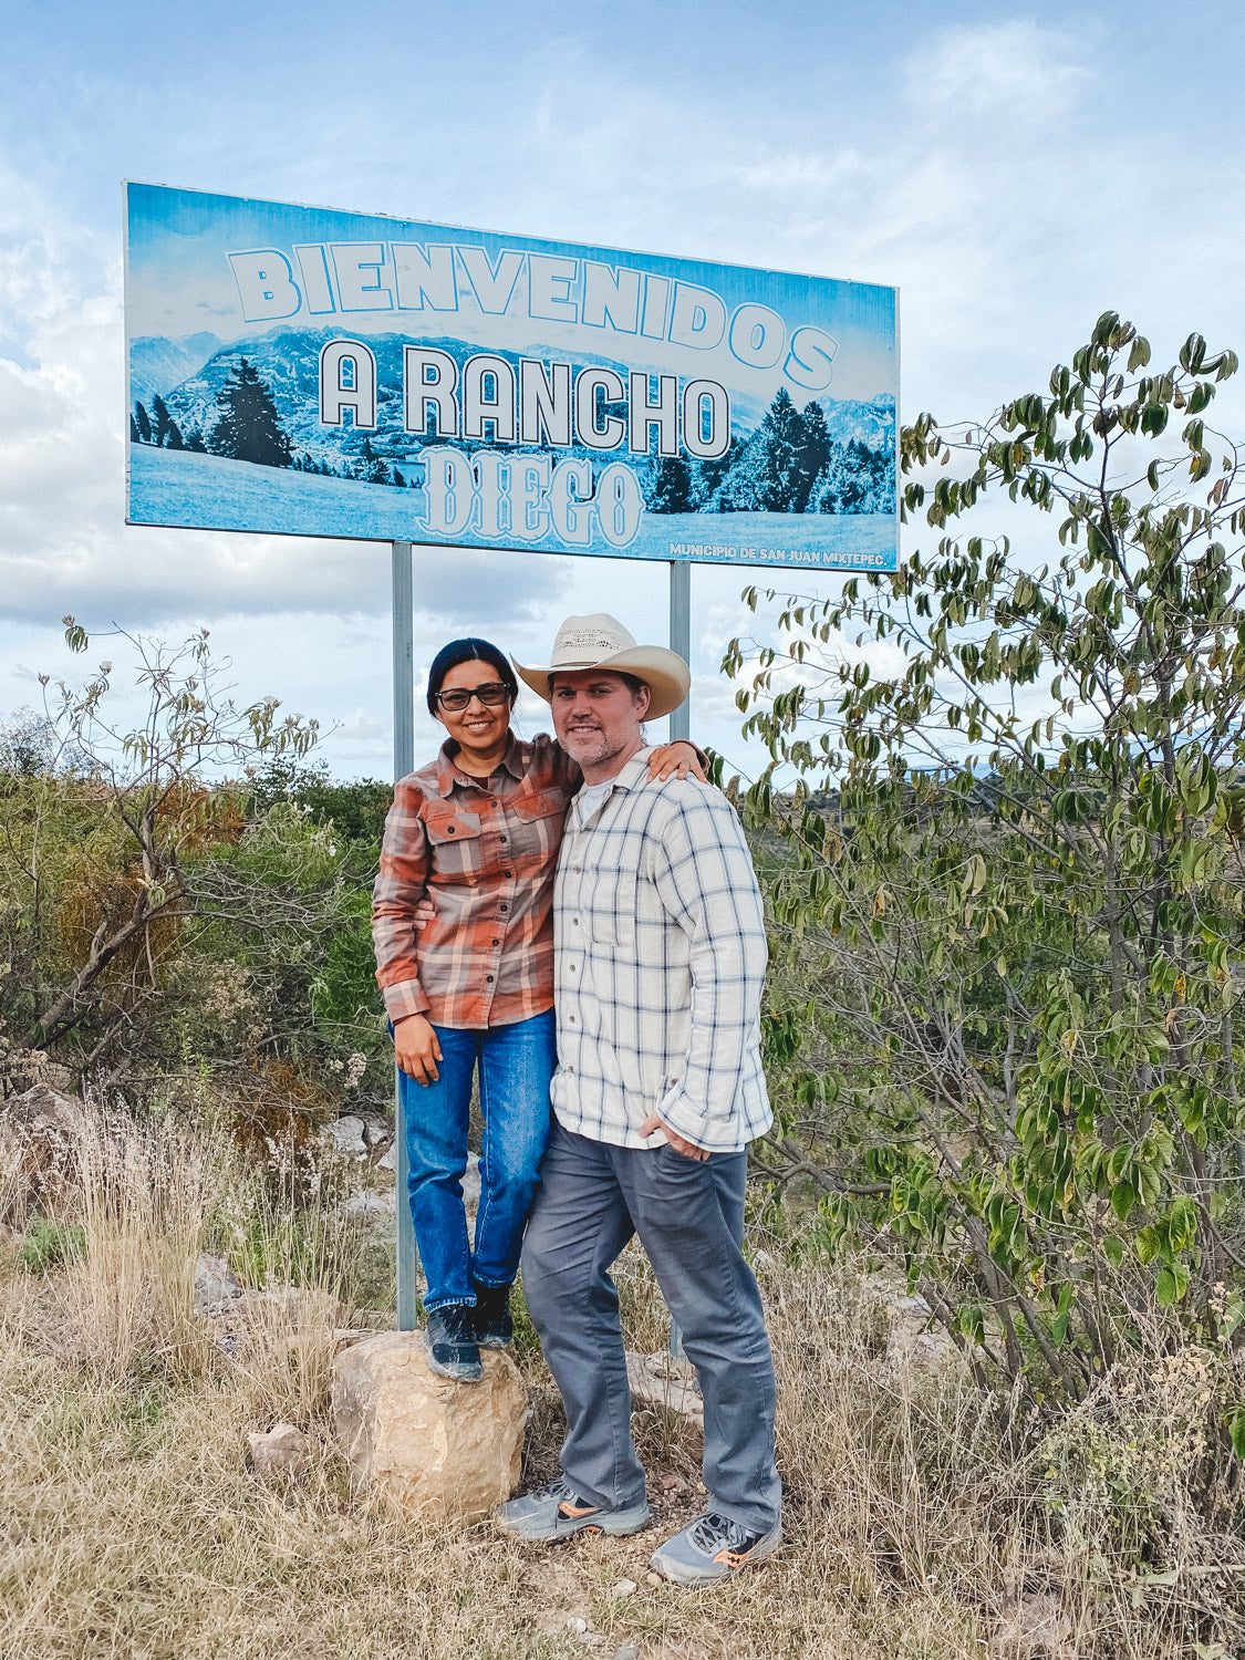
[(566, 1408), (561, 1466), (584, 1499), (644, 1499), (609, 1268), (639, 1233), (704, 1396), (709, 1509), (750, 1532), (779, 1521), (774, 1365), (760, 1293), (740, 1250), (747, 1154), (706, 1164), (554, 1124), (523, 1242), (523, 1295)]

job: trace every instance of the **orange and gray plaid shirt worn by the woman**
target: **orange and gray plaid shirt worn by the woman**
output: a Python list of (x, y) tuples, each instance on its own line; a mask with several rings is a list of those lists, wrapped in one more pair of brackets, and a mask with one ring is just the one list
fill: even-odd
[[(553, 1008), (553, 875), (581, 774), (544, 734), (511, 737), (488, 779), (452, 747), (393, 792), (372, 893), (377, 981), (395, 1024), (511, 1026)], [(417, 930), (425, 895), (437, 918)]]

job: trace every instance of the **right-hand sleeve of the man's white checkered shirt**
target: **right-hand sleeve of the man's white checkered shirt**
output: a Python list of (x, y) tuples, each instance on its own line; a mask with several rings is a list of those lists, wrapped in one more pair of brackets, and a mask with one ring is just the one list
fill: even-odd
[(765, 984), (765, 913), (735, 810), (717, 790), (684, 795), (654, 837), (652, 878), (691, 943), (687, 1064), (657, 1112), (697, 1145), (720, 1145), (709, 1120), (734, 1119), (755, 1069)]

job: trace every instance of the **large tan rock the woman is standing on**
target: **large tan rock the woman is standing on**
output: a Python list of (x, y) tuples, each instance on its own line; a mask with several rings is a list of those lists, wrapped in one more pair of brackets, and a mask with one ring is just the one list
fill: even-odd
[(485, 1351), (481, 1383), (428, 1366), (422, 1331), (383, 1331), (334, 1363), (337, 1436), (355, 1481), (420, 1521), (475, 1521), (520, 1477), (526, 1396), (510, 1355)]

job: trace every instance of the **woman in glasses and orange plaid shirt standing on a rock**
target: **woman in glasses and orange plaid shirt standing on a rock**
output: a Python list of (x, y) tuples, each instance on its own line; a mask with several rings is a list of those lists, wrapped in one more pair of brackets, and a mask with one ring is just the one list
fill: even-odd
[[(428, 1363), (463, 1383), (483, 1374), (480, 1348), (511, 1338), (510, 1286), (556, 1064), (553, 873), (581, 784), (553, 739), (511, 734), (516, 697), (515, 671), (488, 641), (456, 639), (437, 654), (428, 712), (448, 737), (397, 785), (372, 905), (427, 1278)], [(696, 755), (672, 744), (654, 750), (651, 770), (699, 772)], [(435, 915), (418, 928), (425, 896)], [(476, 1071), (483, 1149), (471, 1245), (461, 1177)]]

